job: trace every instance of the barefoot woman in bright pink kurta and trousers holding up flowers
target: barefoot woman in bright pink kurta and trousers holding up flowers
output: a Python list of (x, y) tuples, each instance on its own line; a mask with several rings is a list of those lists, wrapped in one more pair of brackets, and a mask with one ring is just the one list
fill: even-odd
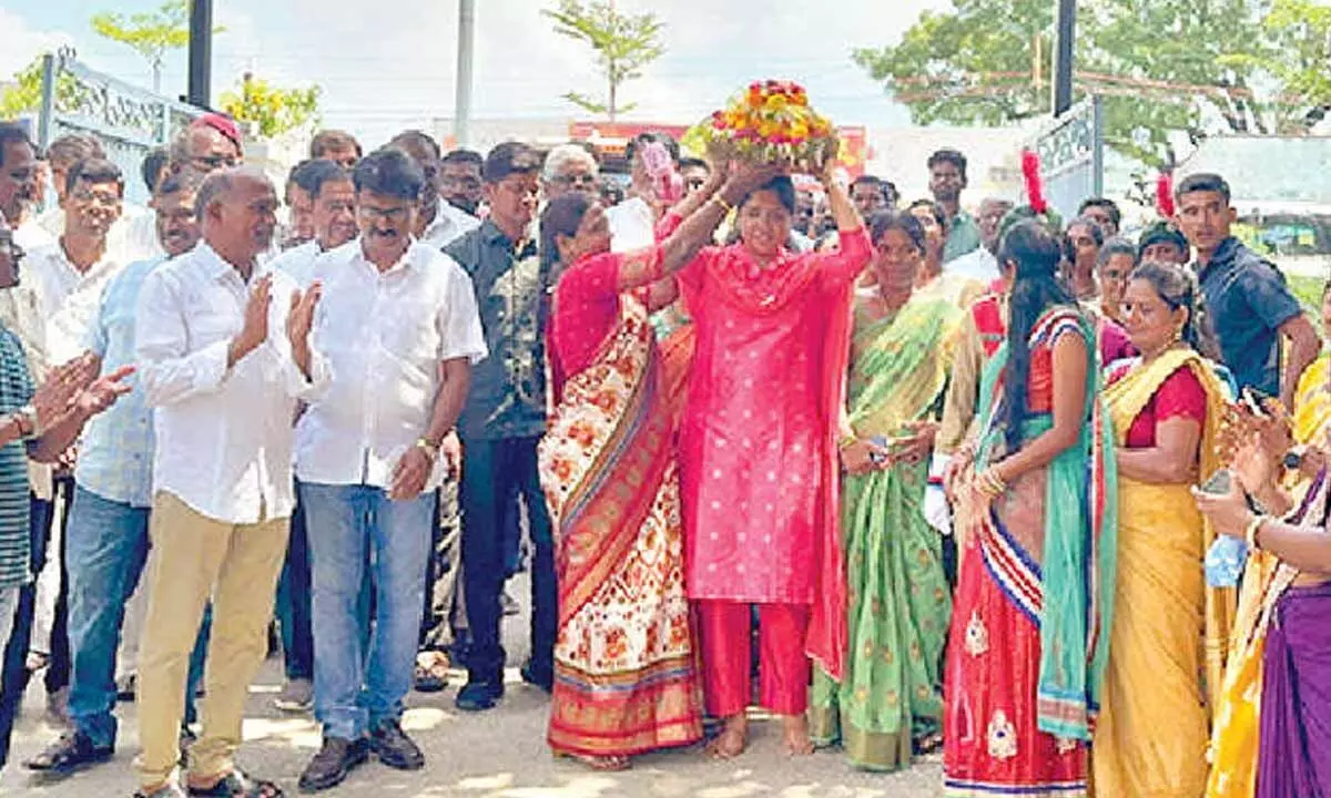
[(715, 757), (743, 753), (757, 606), (760, 704), (792, 754), (812, 751), (805, 710), (815, 657), (845, 661), (837, 529), (837, 432), (851, 294), (872, 245), (843, 186), (824, 176), (841, 249), (785, 247), (795, 189), (779, 177), (737, 206), (740, 243), (707, 247), (679, 274), (696, 348), (680, 430), (688, 597), (707, 709), (725, 728)]

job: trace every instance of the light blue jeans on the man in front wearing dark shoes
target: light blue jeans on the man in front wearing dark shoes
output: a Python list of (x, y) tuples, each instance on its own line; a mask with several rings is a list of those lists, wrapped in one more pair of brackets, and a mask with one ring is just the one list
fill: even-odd
[[(325, 737), (359, 739), (402, 717), (425, 605), (434, 491), (405, 501), (369, 485), (301, 483), (310, 535), (314, 716)], [(359, 601), (371, 573), (374, 630), (362, 656)]]

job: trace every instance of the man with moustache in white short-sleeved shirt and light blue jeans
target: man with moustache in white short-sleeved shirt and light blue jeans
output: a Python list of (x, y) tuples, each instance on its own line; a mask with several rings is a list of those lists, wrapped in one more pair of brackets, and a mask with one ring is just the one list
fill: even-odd
[[(295, 473), (314, 575), (314, 702), (323, 746), (303, 791), (341, 783), (373, 751), (425, 766), (402, 730), (425, 597), (443, 438), (467, 396), (484, 336), (471, 281), (413, 241), (425, 174), (383, 149), (355, 166), (358, 242), (319, 257), (325, 313), (315, 388), (295, 430)], [(365, 551), (373, 552), (366, 567)], [(374, 634), (362, 656), (359, 596), (373, 580)]]

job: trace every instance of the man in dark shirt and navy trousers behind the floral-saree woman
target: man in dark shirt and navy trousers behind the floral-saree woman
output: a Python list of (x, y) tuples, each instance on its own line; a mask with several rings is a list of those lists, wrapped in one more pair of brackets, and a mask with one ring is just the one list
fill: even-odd
[(471, 630), (467, 684), (458, 709), (492, 709), (503, 697), (504, 650), (499, 624), (507, 577), (506, 529), (523, 504), (531, 532), (531, 660), (528, 684), (554, 680), (556, 591), (554, 540), (540, 489), (536, 444), (546, 430), (544, 326), (551, 275), (530, 238), (540, 194), (540, 158), (504, 142), (484, 165), (490, 218), (447, 253), (471, 277), (488, 356), (471, 374), (471, 392), (458, 422), (462, 440), (462, 565)]

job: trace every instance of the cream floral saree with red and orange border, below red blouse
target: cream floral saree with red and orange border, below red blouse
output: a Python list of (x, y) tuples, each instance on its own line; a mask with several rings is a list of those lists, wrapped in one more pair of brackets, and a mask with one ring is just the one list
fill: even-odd
[(703, 735), (675, 430), (647, 309), (572, 375), (540, 444), (555, 523), (559, 636), (550, 746), (632, 755)]

